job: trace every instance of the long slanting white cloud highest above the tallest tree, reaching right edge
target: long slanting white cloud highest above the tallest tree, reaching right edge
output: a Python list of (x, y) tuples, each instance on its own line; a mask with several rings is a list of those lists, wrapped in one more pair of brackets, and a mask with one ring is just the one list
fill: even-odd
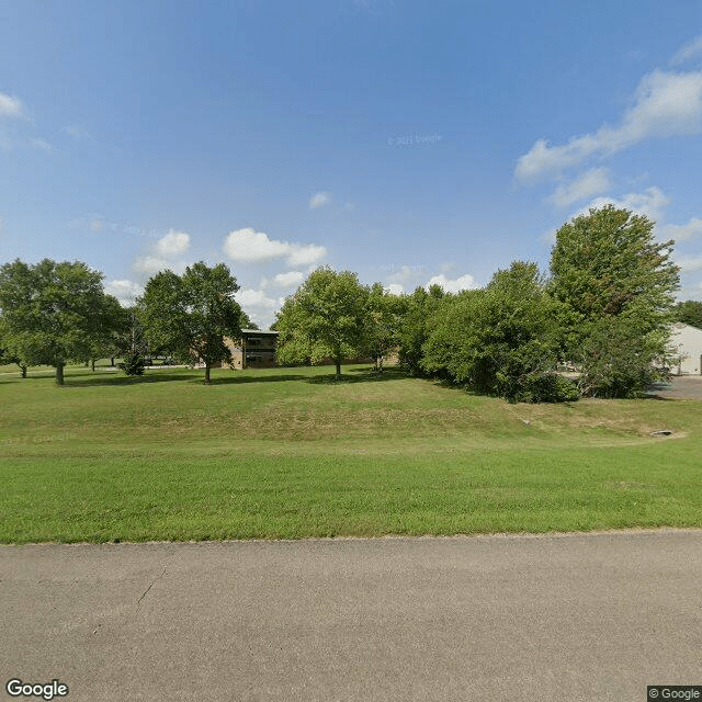
[(596, 133), (571, 138), (563, 146), (539, 139), (517, 161), (514, 174), (533, 181), (559, 174), (592, 155), (608, 156), (653, 137), (698, 134), (702, 131), (702, 71), (644, 76), (634, 104), (619, 126), (603, 124)]

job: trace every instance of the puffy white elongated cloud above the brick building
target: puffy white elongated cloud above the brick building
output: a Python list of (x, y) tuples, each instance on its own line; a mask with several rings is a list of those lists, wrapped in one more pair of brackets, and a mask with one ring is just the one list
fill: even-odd
[(278, 241), (251, 227), (230, 231), (224, 240), (223, 250), (233, 261), (260, 263), (285, 259), (293, 267), (313, 265), (327, 254), (322, 246)]

